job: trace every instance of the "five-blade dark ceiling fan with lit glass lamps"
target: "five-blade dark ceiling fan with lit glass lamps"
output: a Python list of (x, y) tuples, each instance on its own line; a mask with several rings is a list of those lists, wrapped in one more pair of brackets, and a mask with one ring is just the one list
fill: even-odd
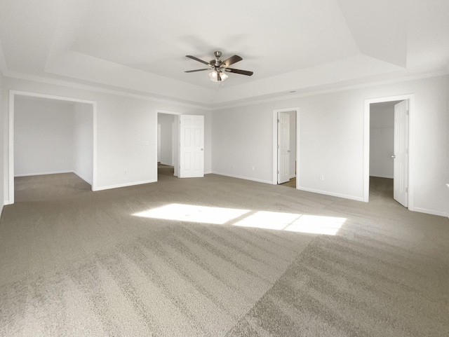
[(222, 52), (216, 51), (214, 53), (214, 55), (215, 55), (215, 60), (210, 60), (210, 62), (203, 61), (203, 60), (199, 59), (198, 57), (194, 57), (192, 55), (185, 55), (186, 57), (189, 57), (192, 60), (201, 62), (203, 64), (207, 64), (209, 66), (206, 69), (187, 70), (185, 72), (193, 73), (195, 71), (210, 70), (209, 78), (210, 78), (210, 81), (213, 81), (213, 82), (226, 81), (226, 79), (229, 76), (227, 76), (227, 74), (225, 74), (225, 72), (241, 74), (241, 75), (246, 75), (246, 76), (253, 75), (253, 71), (228, 68), (231, 64), (234, 64), (236, 62), (243, 60), (239, 55), (231, 56), (231, 57), (229, 57), (229, 59), (227, 59), (225, 61), (220, 60), (220, 57), (222, 56)]

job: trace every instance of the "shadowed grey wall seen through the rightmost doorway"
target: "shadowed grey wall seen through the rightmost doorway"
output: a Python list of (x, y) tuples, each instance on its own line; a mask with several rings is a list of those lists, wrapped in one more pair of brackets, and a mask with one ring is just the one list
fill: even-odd
[(394, 105), (370, 106), (370, 176), (393, 178)]

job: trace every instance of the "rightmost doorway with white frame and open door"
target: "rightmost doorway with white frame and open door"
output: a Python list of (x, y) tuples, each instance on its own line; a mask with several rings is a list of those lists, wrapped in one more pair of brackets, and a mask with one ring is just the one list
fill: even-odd
[[(365, 100), (364, 201), (382, 194), (413, 210), (410, 111), (413, 95)], [(368, 158), (367, 158), (368, 157)]]

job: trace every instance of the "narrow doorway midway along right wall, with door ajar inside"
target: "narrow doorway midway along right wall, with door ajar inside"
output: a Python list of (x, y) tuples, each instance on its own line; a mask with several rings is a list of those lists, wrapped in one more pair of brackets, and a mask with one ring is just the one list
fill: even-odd
[(297, 188), (299, 108), (273, 111), (273, 184)]

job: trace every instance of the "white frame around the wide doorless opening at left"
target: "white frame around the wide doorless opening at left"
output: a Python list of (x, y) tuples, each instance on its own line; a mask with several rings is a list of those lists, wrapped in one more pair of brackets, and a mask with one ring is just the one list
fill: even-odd
[(6, 165), (8, 174), (5, 174), (5, 205), (14, 203), (14, 103), (15, 96), (28, 96), (36, 98), (53, 99), (56, 101), (66, 101), (75, 103), (86, 103), (92, 105), (93, 112), (93, 161), (92, 161), (92, 191), (97, 191), (97, 102), (86, 99), (78, 99), (73, 97), (55, 96), (47, 94), (39, 94), (37, 92), (27, 92), (20, 90), (9, 90), (8, 105), (8, 157), (6, 157)]

